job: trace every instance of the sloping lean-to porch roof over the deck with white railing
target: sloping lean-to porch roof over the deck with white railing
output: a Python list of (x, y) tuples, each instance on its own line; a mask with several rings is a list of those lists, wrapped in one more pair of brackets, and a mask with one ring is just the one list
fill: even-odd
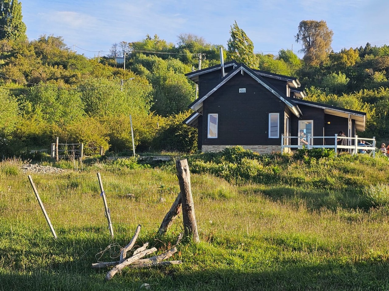
[(324, 110), (325, 114), (331, 114), (335, 116), (345, 117), (345, 118), (351, 118), (355, 120), (355, 127), (358, 131), (364, 131), (366, 127), (366, 113), (362, 111), (356, 111), (351, 109), (345, 109), (342, 107), (336, 107), (331, 105), (326, 105), (322, 103), (307, 101), (307, 100), (301, 100), (301, 99), (295, 99), (295, 103), (321, 108)]

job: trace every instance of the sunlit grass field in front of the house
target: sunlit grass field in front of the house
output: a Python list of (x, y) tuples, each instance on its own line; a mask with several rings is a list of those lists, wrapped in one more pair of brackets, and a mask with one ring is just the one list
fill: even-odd
[(243, 158), (249, 168), (235, 165), (248, 169), (245, 181), (212, 172), (223, 163), (215, 157), (189, 161), (197, 172), (191, 182), (201, 242), (179, 244), (172, 259), (182, 265), (124, 269), (109, 282), (106, 270), (93, 270), (91, 263), (116, 257), (138, 224), (139, 244), (149, 241), (159, 252), (182, 232), (179, 218), (165, 236), (156, 235), (179, 192), (174, 166), (96, 163), (78, 173), (32, 174), (54, 240), (26, 174), (1, 163), (0, 290), (138, 290), (143, 283), (152, 290), (389, 289), (384, 158)]

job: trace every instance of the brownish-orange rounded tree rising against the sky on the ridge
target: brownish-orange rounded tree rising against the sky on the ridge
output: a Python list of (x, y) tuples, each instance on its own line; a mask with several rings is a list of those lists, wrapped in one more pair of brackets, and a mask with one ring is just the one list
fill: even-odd
[(298, 25), (296, 42), (302, 44), (300, 52), (304, 53), (305, 64), (317, 66), (331, 52), (333, 31), (324, 20), (303, 20)]

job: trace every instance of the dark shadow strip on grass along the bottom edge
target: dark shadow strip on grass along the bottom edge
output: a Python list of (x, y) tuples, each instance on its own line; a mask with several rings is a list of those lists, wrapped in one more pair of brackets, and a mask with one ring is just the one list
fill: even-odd
[[(147, 282), (152, 290), (387, 290), (389, 265), (371, 263), (317, 263), (299, 267), (286, 262), (275, 270), (235, 270), (203, 265), (126, 270), (105, 282), (105, 272), (77, 273), (37, 270), (7, 274), (0, 270), (0, 290), (137, 290)], [(261, 266), (265, 267), (265, 266)]]

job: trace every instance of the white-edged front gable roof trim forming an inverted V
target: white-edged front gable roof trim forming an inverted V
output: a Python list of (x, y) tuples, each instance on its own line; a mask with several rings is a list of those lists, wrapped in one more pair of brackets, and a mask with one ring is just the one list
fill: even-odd
[(230, 73), (228, 73), (226, 76), (224, 76), (224, 78), (221, 79), (221, 82), (215, 88), (210, 90), (202, 98), (196, 99), (194, 102), (189, 104), (188, 107), (191, 108), (193, 111), (196, 111), (196, 112), (202, 114), (204, 100), (207, 99), (217, 89), (222, 87), (228, 80), (230, 80), (233, 76), (235, 76), (239, 72), (246, 72), (249, 76), (251, 76), (259, 84), (261, 84), (263, 87), (268, 89), (276, 97), (278, 97), (282, 102), (284, 102), (286, 104), (286, 106), (288, 106), (289, 109), (293, 112), (294, 115), (296, 115), (297, 117), (300, 117), (300, 114), (302, 114), (302, 113), (300, 111), (300, 108), (298, 108), (297, 104), (294, 102), (294, 100), (284, 96), (279, 90), (277, 90), (277, 88), (273, 87), (273, 85), (271, 85), (268, 81), (266, 81), (261, 76), (256, 74), (252, 69), (247, 67), (245, 64), (237, 65)]

